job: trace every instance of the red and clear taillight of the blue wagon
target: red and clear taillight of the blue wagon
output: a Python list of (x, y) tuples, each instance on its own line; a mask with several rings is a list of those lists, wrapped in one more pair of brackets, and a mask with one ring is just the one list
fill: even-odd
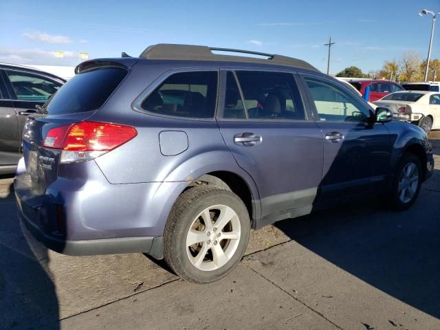
[(132, 126), (108, 122), (78, 122), (47, 132), (43, 146), (61, 149), (61, 163), (94, 159), (137, 135)]

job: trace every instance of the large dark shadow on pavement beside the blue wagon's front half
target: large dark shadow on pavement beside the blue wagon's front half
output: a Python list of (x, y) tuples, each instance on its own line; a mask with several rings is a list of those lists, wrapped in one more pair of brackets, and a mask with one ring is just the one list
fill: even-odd
[[(434, 176), (440, 178), (440, 170)], [(440, 318), (440, 186), (434, 188), (405, 212), (371, 198), (276, 227), (365, 283)]]

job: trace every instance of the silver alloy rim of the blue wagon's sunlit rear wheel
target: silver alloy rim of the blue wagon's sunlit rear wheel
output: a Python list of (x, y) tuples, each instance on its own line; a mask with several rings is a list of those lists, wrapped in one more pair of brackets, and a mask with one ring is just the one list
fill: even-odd
[(198, 270), (218, 270), (234, 256), (240, 238), (236, 212), (225, 205), (210, 206), (192, 221), (186, 234), (186, 254)]

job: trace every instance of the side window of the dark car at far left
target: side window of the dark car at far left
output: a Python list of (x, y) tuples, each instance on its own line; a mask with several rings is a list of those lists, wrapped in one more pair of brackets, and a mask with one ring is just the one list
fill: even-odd
[(61, 83), (38, 74), (5, 70), (14, 89), (17, 100), (46, 102), (60, 87)]

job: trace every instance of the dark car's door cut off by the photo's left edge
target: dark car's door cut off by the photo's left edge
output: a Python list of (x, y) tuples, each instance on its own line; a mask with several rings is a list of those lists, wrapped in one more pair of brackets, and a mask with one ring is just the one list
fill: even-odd
[(19, 124), (0, 70), (0, 166), (19, 161)]

